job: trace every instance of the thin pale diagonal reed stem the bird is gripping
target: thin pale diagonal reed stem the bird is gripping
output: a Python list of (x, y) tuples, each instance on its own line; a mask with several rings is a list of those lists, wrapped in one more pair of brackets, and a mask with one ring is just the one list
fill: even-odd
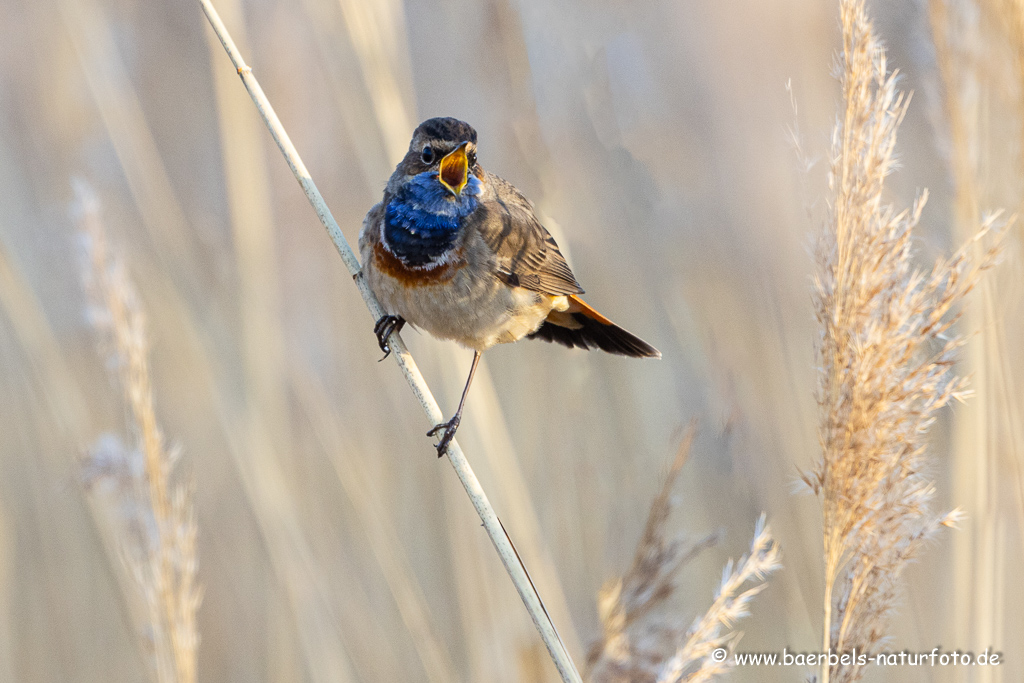
[[(252, 69), (250, 69), (242, 58), (242, 54), (236, 47), (234, 41), (231, 40), (230, 35), (227, 33), (227, 29), (220, 20), (217, 10), (214, 9), (210, 1), (200, 0), (200, 4), (202, 5), (207, 18), (210, 20), (210, 25), (213, 27), (214, 32), (217, 34), (217, 38), (220, 40), (221, 45), (223, 45), (224, 50), (227, 51), (227, 55), (234, 65), (239, 76), (242, 77), (242, 82), (245, 84), (246, 90), (249, 91), (253, 102), (256, 104), (256, 109), (259, 110), (260, 116), (263, 118), (263, 122), (270, 130), (270, 135), (273, 136), (273, 139), (281, 148), (282, 154), (285, 155), (285, 160), (288, 162), (288, 166), (292, 169), (295, 179), (299, 181), (299, 185), (301, 185), (303, 191), (305, 191), (306, 198), (309, 200), (313, 210), (316, 212), (316, 216), (321, 219), (324, 227), (327, 228), (328, 234), (331, 237), (335, 247), (338, 249), (338, 253), (341, 255), (341, 260), (345, 263), (345, 267), (347, 267), (348, 271), (352, 274), (352, 279), (355, 281), (355, 286), (358, 288), (359, 294), (362, 295), (362, 299), (367, 303), (367, 308), (370, 309), (374, 319), (380, 318), (384, 315), (385, 311), (377, 302), (373, 292), (370, 291), (366, 278), (362, 275), (359, 260), (352, 252), (352, 249), (348, 246), (348, 242), (345, 241), (345, 236), (342, 234), (337, 221), (327, 208), (324, 198), (321, 197), (319, 190), (316, 189), (316, 184), (309, 176), (309, 172), (306, 170), (305, 165), (299, 158), (299, 154), (292, 144), (288, 133), (285, 132), (285, 127), (278, 119), (278, 115), (274, 113), (273, 108), (270, 105), (270, 101), (263, 93), (263, 89), (257, 82), (256, 77), (253, 76)], [(443, 414), (437, 405), (437, 401), (434, 400), (433, 394), (430, 392), (430, 388), (423, 379), (423, 375), (420, 374), (420, 370), (417, 367), (416, 361), (410, 354), (409, 349), (406, 348), (404, 342), (397, 335), (392, 335), (388, 344), (393, 351), (391, 355), (394, 356), (395, 361), (401, 369), (402, 374), (409, 382), (409, 386), (413, 389), (413, 393), (416, 395), (417, 399), (419, 399), (424, 413), (426, 413), (427, 418), (430, 420), (430, 423), (432, 425), (437, 425), (444, 422)], [(534, 620), (537, 630), (541, 633), (541, 638), (544, 640), (544, 644), (548, 648), (548, 652), (551, 654), (551, 658), (554, 660), (555, 667), (558, 669), (558, 673), (561, 676), (562, 681), (565, 683), (581, 683), (580, 673), (577, 671), (575, 665), (573, 665), (565, 645), (561, 641), (561, 638), (559, 638), (558, 632), (555, 630), (555, 625), (551, 622), (551, 617), (548, 615), (548, 612), (544, 607), (544, 603), (541, 601), (541, 596), (538, 594), (537, 589), (534, 587), (534, 583), (529, 579), (525, 565), (519, 559), (515, 548), (512, 546), (512, 541), (506, 533), (502, 523), (498, 520), (498, 515), (495, 514), (494, 508), (490, 507), (490, 502), (487, 500), (486, 494), (483, 493), (483, 488), (480, 486), (480, 482), (477, 480), (476, 475), (469, 466), (466, 456), (463, 455), (458, 441), (453, 440), (451, 445), (449, 445), (447, 457), (452, 463), (452, 467), (456, 471), (456, 474), (459, 476), (459, 480), (462, 481), (462, 485), (466, 489), (466, 494), (473, 503), (473, 507), (476, 508), (476, 513), (483, 521), (483, 527), (486, 530), (487, 536), (490, 537), (490, 542), (495, 545), (495, 549), (498, 551), (498, 555), (501, 557), (506, 571), (508, 571), (509, 577), (512, 579), (512, 583), (515, 584), (516, 590), (519, 592), (519, 597), (522, 598), (523, 604), (526, 605), (526, 610), (529, 612), (530, 618)]]

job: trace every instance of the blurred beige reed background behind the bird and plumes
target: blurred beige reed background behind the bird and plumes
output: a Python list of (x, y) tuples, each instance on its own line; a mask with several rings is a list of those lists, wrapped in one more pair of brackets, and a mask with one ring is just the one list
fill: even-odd
[[(669, 614), (707, 609), (765, 511), (784, 569), (739, 649), (819, 649), (820, 505), (795, 482), (819, 457), (811, 245), (837, 3), (216, 6), (350, 242), (416, 123), (462, 118), (481, 164), (547, 217), (589, 300), (665, 354), (497, 348), (459, 432), (577, 660), (693, 417), (668, 523), (723, 538), (684, 568)], [(914, 242), (930, 267), (982, 211), (1021, 208), (1024, 12), (872, 9), (915, 91), (889, 186), (899, 207), (930, 188)], [(199, 679), (554, 680), (198, 4), (0, 0), (0, 681), (145, 680), (156, 638), (136, 635), (81, 468), (102, 435), (133, 435), (87, 315), (76, 177), (137, 288), (156, 413), (191, 482)], [(1024, 678), (1021, 234), (959, 326), (977, 395), (931, 435), (937, 505), (967, 519), (910, 567), (891, 630), (893, 649), (991, 646), (1007, 664), (867, 680)], [(471, 354), (404, 338), (451, 413)]]

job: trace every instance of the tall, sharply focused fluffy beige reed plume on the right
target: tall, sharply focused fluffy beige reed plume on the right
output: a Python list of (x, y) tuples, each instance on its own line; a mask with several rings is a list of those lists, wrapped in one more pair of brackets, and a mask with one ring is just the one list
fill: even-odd
[[(883, 202), (909, 98), (887, 71), (864, 1), (843, 0), (841, 19), (844, 110), (833, 136), (831, 216), (815, 282), (822, 460), (804, 480), (822, 501), (823, 649), (871, 651), (885, 635), (901, 569), (957, 516), (930, 510), (926, 435), (935, 413), (965, 395), (966, 380), (951, 372), (963, 344), (950, 334), (954, 307), (994, 249), (971, 259), (968, 244), (930, 273), (913, 268), (911, 231), (927, 193), (909, 211)], [(995, 220), (986, 220), (975, 241)], [(821, 679), (855, 681), (861, 673), (825, 666)]]

